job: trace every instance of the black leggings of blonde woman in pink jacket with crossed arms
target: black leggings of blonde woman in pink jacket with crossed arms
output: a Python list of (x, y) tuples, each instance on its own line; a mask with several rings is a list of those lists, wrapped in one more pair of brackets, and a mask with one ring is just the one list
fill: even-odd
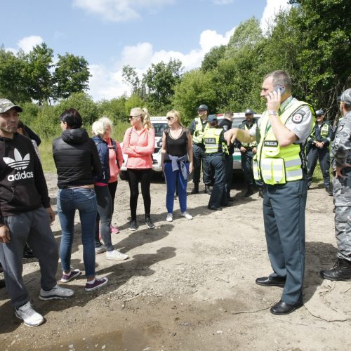
[(144, 199), (145, 216), (150, 216), (151, 197), (150, 197), (150, 183), (151, 183), (152, 169), (132, 169), (128, 168), (128, 183), (129, 190), (131, 190), (131, 198), (129, 206), (131, 206), (131, 220), (136, 220), (136, 206), (138, 204), (139, 196), (139, 182), (141, 184), (141, 194)]

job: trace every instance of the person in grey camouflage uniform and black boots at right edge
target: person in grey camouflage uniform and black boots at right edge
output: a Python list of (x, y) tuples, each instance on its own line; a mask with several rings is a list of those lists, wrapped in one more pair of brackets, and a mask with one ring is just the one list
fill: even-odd
[(338, 245), (336, 265), (322, 270), (322, 278), (351, 281), (351, 88), (340, 97), (339, 109), (343, 116), (333, 145), (333, 196), (335, 234)]

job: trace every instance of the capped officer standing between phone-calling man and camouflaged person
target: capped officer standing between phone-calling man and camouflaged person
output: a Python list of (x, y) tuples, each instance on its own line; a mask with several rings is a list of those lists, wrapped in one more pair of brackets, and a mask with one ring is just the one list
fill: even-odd
[(329, 144), (331, 142), (331, 137), (333, 133), (333, 128), (329, 124), (329, 121), (324, 121), (324, 111), (316, 111), (316, 120), (313, 131), (310, 137), (307, 139), (307, 186), (310, 187), (312, 183), (312, 176), (314, 168), (319, 160), (319, 165), (321, 166), (324, 187), (326, 192), (333, 196), (330, 188), (330, 156), (329, 156)]

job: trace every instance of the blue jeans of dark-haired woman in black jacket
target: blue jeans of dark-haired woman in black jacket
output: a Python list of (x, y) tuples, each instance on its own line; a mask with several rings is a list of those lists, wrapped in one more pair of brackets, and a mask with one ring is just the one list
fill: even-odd
[(79, 211), (81, 219), (81, 242), (83, 244), (83, 261), (86, 277), (95, 276), (95, 220), (96, 195), (93, 189), (74, 188), (58, 190), (58, 218), (60, 219), (62, 237), (60, 257), (62, 270), (71, 269), (71, 253), (74, 237), (74, 214)]

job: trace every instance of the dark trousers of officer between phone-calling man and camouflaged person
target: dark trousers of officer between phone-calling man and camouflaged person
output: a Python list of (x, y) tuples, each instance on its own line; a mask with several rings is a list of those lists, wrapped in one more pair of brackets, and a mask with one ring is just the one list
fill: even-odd
[(321, 166), (321, 171), (323, 175), (323, 183), (324, 187), (329, 189), (330, 187), (330, 154), (329, 147), (323, 147), (323, 149), (319, 149), (319, 147), (311, 147), (310, 151), (307, 154), (307, 180), (308, 186), (312, 183), (312, 176), (314, 172), (314, 168), (317, 165), (317, 161), (319, 159), (319, 164)]

